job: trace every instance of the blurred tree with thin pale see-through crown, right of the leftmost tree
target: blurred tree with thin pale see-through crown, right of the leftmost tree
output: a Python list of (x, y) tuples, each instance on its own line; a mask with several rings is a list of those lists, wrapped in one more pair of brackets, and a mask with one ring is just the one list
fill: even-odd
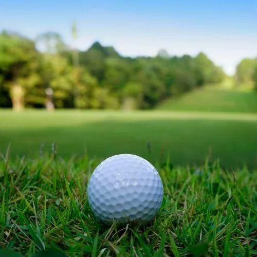
[[(71, 97), (68, 96), (72, 87), (72, 78), (70, 78), (72, 69), (67, 60), (61, 56), (63, 52), (70, 50), (69, 47), (64, 43), (62, 36), (54, 31), (39, 34), (36, 36), (35, 43), (42, 50), (41, 75), (44, 81), (43, 99), (45, 107), (52, 109), (54, 105), (57, 107), (74, 105)], [(49, 91), (51, 91), (51, 96), (47, 94)], [(52, 96), (55, 103), (52, 102)]]

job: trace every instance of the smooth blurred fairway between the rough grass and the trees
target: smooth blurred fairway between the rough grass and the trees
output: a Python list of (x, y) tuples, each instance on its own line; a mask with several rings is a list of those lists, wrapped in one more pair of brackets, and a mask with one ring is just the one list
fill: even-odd
[(11, 156), (51, 153), (105, 158), (133, 153), (151, 161), (227, 168), (257, 166), (257, 115), (164, 111), (0, 111), (0, 151)]

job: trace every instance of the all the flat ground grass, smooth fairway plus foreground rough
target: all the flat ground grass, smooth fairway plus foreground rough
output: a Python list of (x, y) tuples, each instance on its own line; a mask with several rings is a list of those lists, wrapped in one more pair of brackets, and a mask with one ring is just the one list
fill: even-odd
[[(0, 111), (0, 117), (0, 248), (28, 257), (257, 254), (257, 115)], [(144, 226), (104, 225), (88, 205), (91, 173), (118, 153), (148, 159), (161, 176), (162, 206)], [(22, 255), (0, 249), (1, 257)]]

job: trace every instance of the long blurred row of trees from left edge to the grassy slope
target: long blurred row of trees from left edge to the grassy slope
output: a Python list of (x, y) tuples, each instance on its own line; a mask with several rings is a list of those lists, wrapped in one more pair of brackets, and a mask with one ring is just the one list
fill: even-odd
[(56, 32), (0, 33), (0, 107), (149, 109), (225, 76), (203, 52), (130, 58), (99, 42), (77, 51)]

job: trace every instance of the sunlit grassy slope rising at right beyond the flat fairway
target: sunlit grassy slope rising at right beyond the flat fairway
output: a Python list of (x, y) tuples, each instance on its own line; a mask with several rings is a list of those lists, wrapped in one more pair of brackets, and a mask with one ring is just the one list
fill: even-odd
[(235, 88), (207, 86), (169, 99), (160, 110), (257, 113), (257, 92)]

